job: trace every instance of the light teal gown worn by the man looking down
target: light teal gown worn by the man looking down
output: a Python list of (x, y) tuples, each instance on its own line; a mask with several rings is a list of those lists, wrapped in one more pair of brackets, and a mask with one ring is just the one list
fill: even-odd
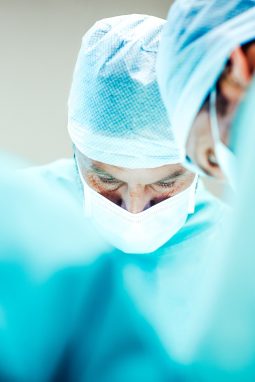
[[(45, 179), (58, 184), (83, 210), (83, 188), (74, 160), (60, 160), (24, 172), (29, 179)], [(187, 343), (192, 333), (189, 321), (199, 295), (201, 280), (208, 267), (221, 225), (225, 206), (205, 191), (199, 182), (195, 213), (185, 226), (164, 246), (151, 254), (130, 255), (112, 249), (116, 274), (124, 283), (134, 309), (152, 326), (168, 361), (182, 366), (187, 359)], [(84, 216), (95, 243), (103, 239)], [(104, 346), (110, 342), (107, 339)]]

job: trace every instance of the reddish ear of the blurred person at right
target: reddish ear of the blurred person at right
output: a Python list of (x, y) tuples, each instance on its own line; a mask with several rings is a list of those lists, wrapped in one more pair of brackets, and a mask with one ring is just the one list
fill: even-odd
[(248, 57), (240, 46), (230, 56), (229, 76), (234, 83), (242, 88), (246, 88), (252, 79)]

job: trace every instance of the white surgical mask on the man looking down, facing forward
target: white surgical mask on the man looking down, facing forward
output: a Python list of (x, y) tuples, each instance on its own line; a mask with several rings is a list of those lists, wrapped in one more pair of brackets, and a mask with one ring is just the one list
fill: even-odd
[(101, 235), (126, 253), (154, 252), (174, 236), (194, 212), (197, 177), (183, 192), (132, 214), (94, 191), (81, 176), (86, 215)]

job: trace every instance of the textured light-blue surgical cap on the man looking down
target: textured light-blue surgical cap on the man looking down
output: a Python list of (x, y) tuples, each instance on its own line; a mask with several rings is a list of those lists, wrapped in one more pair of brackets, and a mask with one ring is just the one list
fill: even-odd
[(81, 153), (127, 168), (179, 163), (156, 79), (165, 20), (127, 15), (85, 34), (68, 104), (68, 129)]

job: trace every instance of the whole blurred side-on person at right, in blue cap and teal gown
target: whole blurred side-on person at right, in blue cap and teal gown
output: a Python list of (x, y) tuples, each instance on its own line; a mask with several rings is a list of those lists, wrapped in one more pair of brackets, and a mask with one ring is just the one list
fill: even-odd
[(254, 23), (254, 1), (176, 1), (160, 48), (161, 92), (185, 165), (236, 192), (190, 320), (193, 380), (255, 379)]

